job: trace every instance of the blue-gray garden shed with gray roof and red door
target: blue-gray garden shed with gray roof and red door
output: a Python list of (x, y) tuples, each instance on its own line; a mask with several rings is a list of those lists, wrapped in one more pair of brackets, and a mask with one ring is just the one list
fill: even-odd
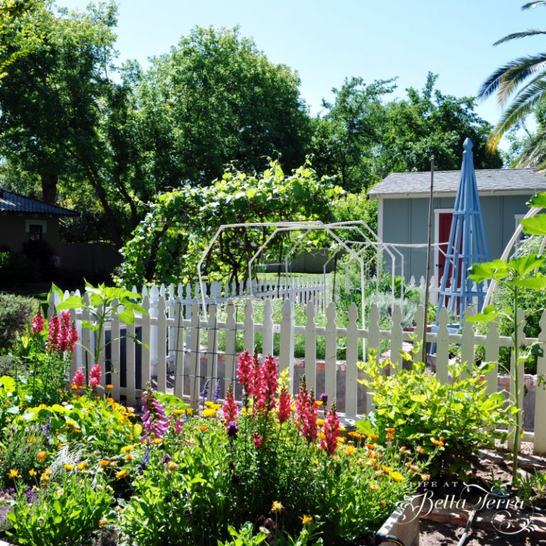
[[(369, 192), (378, 200), (378, 235), (384, 242), (423, 245), (427, 242), (430, 173), (392, 173)], [(434, 173), (433, 242), (447, 243), (461, 171)], [(531, 168), (477, 169), (476, 183), (483, 213), (489, 259), (501, 257), (518, 220), (528, 212), (529, 198), (546, 190), (546, 178)], [(444, 245), (445, 247), (447, 245)], [(425, 247), (400, 247), (406, 279), (424, 276)], [(443, 274), (444, 256), (434, 247), (432, 274)]]

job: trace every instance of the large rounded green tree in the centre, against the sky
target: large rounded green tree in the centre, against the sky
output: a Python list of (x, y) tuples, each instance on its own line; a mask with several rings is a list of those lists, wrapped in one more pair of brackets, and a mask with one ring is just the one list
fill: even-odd
[(237, 28), (196, 27), (147, 73), (133, 63), (126, 75), (162, 188), (208, 184), (230, 163), (262, 171), (267, 156), (280, 156), (287, 168), (304, 161), (309, 115), (298, 75), (271, 63)]

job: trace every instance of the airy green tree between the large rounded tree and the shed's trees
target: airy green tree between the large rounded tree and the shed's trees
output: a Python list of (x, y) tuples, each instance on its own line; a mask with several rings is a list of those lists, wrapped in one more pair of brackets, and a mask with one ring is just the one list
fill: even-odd
[(386, 122), (382, 97), (395, 88), (392, 82), (366, 85), (361, 77), (346, 79), (341, 89), (332, 90), (334, 102), (323, 101), (326, 114), (314, 120), (314, 165), (320, 173), (336, 173), (346, 191), (367, 189), (380, 179), (375, 166)]

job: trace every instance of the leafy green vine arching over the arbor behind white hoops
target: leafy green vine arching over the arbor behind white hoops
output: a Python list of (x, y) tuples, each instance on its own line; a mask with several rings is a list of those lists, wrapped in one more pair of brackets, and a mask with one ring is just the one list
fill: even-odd
[[(186, 184), (162, 193), (123, 247), (118, 281), (130, 286), (195, 280), (197, 263), (220, 225), (328, 221), (331, 200), (341, 193), (309, 164), (286, 176), (277, 161), (262, 175), (230, 168), (212, 186)], [(272, 228), (225, 230), (208, 253), (203, 273), (210, 280), (245, 280), (248, 261), (271, 233)], [(274, 257), (282, 239), (277, 237), (268, 249)]]

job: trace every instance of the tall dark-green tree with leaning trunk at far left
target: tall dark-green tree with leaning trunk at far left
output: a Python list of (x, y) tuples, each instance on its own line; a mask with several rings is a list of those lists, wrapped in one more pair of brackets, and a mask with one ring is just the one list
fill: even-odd
[(122, 244), (127, 188), (112, 176), (105, 125), (114, 119), (123, 88), (109, 79), (114, 55), (114, 4), (85, 13), (33, 14), (44, 39), (11, 64), (0, 87), (0, 146), (9, 161), (41, 179), (55, 202), (61, 178), (95, 191), (112, 240)]

